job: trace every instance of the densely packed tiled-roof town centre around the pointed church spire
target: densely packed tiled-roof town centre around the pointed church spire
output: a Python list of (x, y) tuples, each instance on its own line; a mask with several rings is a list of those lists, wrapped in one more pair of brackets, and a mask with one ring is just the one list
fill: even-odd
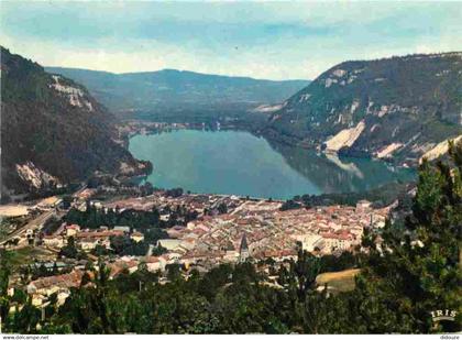
[(366, 201), (356, 207), (279, 208), (280, 202), (241, 201), (228, 213), (170, 228), (167, 232), (175, 240), (158, 243), (185, 264), (239, 261), (243, 235), (250, 256), (257, 260), (292, 259), (300, 248), (331, 254), (353, 250), (364, 229), (384, 227), (388, 215), (388, 209), (373, 209)]

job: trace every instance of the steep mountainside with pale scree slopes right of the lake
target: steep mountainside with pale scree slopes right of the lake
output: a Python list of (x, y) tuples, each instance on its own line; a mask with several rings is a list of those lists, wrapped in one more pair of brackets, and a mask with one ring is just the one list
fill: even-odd
[(462, 134), (462, 53), (339, 64), (273, 112), (267, 132), (332, 152), (416, 163)]

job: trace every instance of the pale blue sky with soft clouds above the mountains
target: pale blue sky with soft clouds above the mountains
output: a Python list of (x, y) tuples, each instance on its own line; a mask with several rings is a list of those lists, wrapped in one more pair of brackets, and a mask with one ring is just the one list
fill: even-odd
[(0, 0), (0, 44), (45, 66), (315, 79), (344, 61), (462, 51), (462, 2)]

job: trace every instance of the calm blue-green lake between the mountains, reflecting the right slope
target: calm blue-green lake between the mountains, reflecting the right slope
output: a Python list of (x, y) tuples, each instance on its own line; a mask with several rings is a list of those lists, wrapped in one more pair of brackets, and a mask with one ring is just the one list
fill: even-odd
[(272, 145), (242, 131), (139, 134), (131, 138), (129, 150), (136, 158), (153, 163), (147, 180), (155, 187), (193, 193), (288, 199), (302, 194), (362, 191), (415, 178), (414, 171), (384, 162)]

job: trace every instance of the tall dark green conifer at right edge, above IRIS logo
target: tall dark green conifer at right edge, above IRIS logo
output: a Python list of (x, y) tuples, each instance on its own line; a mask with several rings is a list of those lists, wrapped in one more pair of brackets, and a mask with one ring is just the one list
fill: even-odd
[[(405, 229), (387, 223), (380, 246), (373, 234), (364, 240), (370, 256), (356, 282), (358, 311), (371, 332), (462, 329), (462, 144), (449, 150), (450, 162), (421, 164)], [(438, 309), (458, 311), (455, 321), (435, 323)]]

